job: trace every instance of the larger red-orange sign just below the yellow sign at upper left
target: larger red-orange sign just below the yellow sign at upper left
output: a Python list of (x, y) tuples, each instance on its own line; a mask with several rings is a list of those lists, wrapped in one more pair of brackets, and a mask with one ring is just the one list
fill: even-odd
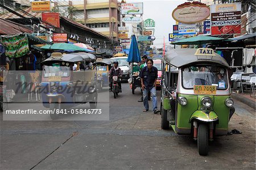
[[(46, 22), (46, 27), (51, 28), (52, 26), (60, 28), (60, 14), (59, 13), (42, 13), (42, 20)], [(49, 25), (49, 24), (51, 25)]]

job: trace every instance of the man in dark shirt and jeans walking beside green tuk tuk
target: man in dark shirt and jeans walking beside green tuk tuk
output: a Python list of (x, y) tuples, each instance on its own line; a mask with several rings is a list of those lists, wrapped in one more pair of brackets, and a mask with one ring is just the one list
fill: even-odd
[(143, 104), (145, 109), (143, 111), (148, 111), (148, 91), (151, 92), (152, 105), (154, 113), (157, 114), (160, 111), (157, 110), (158, 103), (156, 99), (156, 78), (158, 78), (158, 69), (153, 66), (153, 60), (147, 60), (147, 67), (144, 67), (139, 73), (141, 77), (141, 87), (143, 90)]

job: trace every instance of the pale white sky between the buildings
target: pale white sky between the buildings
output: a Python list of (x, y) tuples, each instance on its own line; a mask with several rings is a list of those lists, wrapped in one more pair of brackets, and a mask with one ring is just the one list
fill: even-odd
[(143, 20), (151, 18), (155, 21), (155, 40), (157, 48), (163, 47), (163, 39), (169, 44), (169, 34), (172, 33), (172, 25), (175, 20), (172, 18), (172, 11), (180, 4), (189, 1), (180, 0), (126, 0), (126, 3), (143, 2)]

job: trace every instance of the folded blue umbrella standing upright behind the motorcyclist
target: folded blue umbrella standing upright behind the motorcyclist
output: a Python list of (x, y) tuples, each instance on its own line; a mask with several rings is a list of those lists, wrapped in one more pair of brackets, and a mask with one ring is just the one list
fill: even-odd
[(141, 56), (139, 55), (139, 48), (135, 35), (131, 38), (130, 52), (127, 61), (131, 63), (141, 62)]

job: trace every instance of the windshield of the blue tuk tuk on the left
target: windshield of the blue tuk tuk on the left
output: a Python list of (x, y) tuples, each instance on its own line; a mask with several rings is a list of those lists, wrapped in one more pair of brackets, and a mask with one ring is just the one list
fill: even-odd
[(69, 65), (60, 65), (56, 63), (44, 65), (43, 75), (44, 77), (50, 77), (50, 76), (69, 77), (70, 67)]

